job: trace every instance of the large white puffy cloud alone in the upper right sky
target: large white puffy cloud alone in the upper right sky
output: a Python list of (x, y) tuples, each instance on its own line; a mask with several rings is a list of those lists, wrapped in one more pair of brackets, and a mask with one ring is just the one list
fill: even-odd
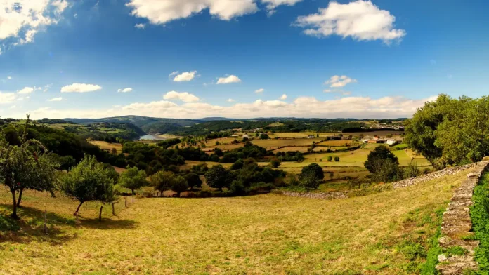
[(401, 39), (404, 29), (394, 29), (396, 18), (371, 1), (358, 0), (348, 4), (331, 1), (319, 13), (300, 16), (295, 25), (306, 28), (304, 34), (327, 37), (336, 34), (343, 38), (382, 40), (385, 43)]

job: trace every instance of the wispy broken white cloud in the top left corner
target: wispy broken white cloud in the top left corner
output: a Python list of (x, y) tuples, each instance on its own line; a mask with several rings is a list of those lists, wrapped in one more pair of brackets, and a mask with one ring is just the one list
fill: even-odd
[(30, 43), (41, 29), (56, 25), (65, 8), (65, 0), (2, 0), (0, 40), (14, 39), (12, 45)]

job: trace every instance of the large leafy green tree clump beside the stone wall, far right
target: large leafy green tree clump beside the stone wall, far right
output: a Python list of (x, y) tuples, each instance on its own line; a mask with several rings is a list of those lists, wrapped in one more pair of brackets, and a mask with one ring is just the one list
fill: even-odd
[(440, 95), (406, 121), (405, 134), (436, 168), (481, 161), (489, 155), (489, 97)]

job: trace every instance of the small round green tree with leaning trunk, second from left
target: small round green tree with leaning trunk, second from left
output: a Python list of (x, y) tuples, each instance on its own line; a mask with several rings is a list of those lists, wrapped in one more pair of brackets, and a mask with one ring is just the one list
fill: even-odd
[(63, 177), (61, 191), (70, 199), (79, 201), (73, 214), (75, 216), (86, 201), (115, 201), (114, 182), (110, 178), (110, 173), (103, 168), (102, 163), (98, 163), (95, 156), (85, 156)]

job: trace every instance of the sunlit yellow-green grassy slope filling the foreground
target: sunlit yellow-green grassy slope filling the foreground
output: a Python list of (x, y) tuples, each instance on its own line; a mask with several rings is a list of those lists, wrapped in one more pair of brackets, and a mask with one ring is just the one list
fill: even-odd
[[(0, 274), (419, 274), (436, 213), (466, 172), (370, 196), (278, 194), (98, 203), (27, 192), (20, 222), (0, 189)], [(129, 202), (130, 200), (128, 200)], [(49, 234), (41, 233), (48, 211)]]

